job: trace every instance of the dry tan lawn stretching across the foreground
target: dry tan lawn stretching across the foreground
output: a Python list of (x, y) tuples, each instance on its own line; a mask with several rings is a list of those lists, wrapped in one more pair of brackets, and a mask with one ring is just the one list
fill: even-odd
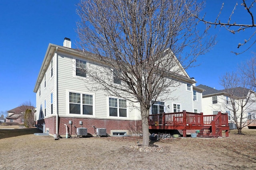
[[(0, 127), (1, 128), (1, 127)], [(255, 170), (256, 129), (228, 138), (177, 138), (138, 147), (141, 137), (54, 140), (38, 129), (0, 129), (1, 170)], [(224, 136), (224, 135), (223, 135)]]

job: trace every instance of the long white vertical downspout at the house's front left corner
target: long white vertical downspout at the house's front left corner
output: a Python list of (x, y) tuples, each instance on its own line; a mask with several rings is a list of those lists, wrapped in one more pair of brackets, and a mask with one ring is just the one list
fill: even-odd
[(56, 113), (56, 135), (58, 135), (58, 55), (57, 55), (58, 47), (56, 47), (56, 52), (55, 52), (55, 84), (54, 84), (54, 91), (55, 91), (55, 113)]

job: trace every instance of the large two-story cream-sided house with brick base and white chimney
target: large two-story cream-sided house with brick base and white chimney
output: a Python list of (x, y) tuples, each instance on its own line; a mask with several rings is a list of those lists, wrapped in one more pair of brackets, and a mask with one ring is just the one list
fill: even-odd
[[(106, 128), (109, 135), (141, 133), (140, 106), (122, 98), (108, 96), (102, 90), (91, 91), (90, 77), (86, 67), (98, 66), (95, 55), (71, 48), (71, 41), (64, 39), (63, 46), (49, 44), (34, 92), (36, 92), (36, 125), (44, 133), (74, 135), (76, 128), (86, 127), (95, 134), (95, 128)], [(178, 66), (181, 66), (179, 63)], [(82, 66), (82, 68), (80, 68)], [(113, 76), (113, 83), (114, 82)], [(180, 86), (170, 88), (173, 100), (157, 101), (150, 114), (180, 112), (202, 112), (202, 89), (195, 86), (183, 69)]]

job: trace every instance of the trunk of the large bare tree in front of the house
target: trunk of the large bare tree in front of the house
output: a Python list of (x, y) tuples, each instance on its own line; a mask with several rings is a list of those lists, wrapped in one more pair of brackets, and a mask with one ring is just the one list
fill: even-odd
[(148, 114), (149, 110), (143, 106), (140, 106), (141, 111), (141, 121), (142, 121), (142, 146), (149, 146), (149, 130), (148, 130)]

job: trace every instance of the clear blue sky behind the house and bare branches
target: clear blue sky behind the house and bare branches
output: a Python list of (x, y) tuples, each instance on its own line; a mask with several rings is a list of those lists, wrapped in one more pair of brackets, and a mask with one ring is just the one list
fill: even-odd
[[(36, 79), (49, 43), (63, 45), (64, 37), (78, 41), (75, 10), (79, 0), (1, 0), (0, 1), (0, 111), (6, 111), (30, 101), (36, 106), (33, 92)], [(226, 8), (223, 16), (228, 18), (236, 1), (224, 0)], [(227, 4), (226, 4), (227, 3)], [(206, 18), (214, 21), (222, 1), (206, 1)], [(254, 10), (255, 11), (255, 10)], [(237, 11), (238, 12), (238, 11)], [(246, 21), (245, 12), (236, 14), (236, 21)], [(223, 20), (224, 21), (224, 20)], [(249, 21), (248, 21), (249, 22)], [(237, 45), (252, 31), (233, 35), (217, 27), (209, 34), (217, 35), (217, 44), (206, 55), (200, 56), (195, 64), (200, 66), (187, 70), (197, 85), (221, 89), (219, 77), (225, 72), (236, 70), (242, 61), (253, 56), (255, 47), (241, 55)], [(239, 52), (239, 51), (238, 51)], [(255, 50), (254, 50), (255, 52)]]

